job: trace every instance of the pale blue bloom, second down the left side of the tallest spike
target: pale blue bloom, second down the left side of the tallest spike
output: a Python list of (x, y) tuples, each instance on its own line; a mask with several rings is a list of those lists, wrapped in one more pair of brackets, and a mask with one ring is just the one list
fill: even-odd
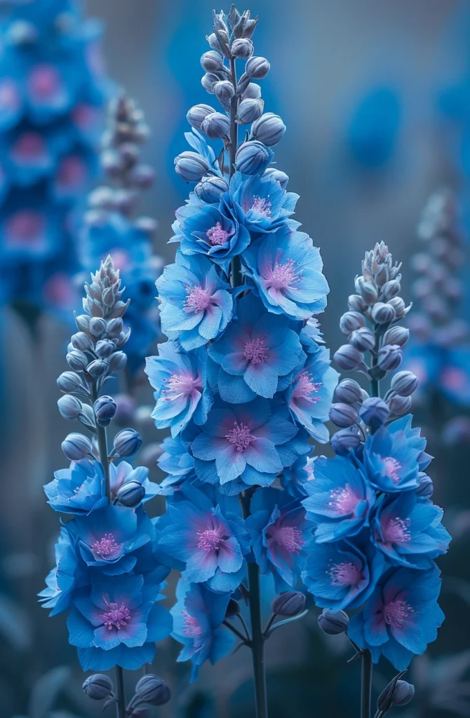
[(204, 256), (176, 253), (157, 280), (162, 330), (186, 350), (203, 346), (224, 331), (233, 312), (229, 284)]

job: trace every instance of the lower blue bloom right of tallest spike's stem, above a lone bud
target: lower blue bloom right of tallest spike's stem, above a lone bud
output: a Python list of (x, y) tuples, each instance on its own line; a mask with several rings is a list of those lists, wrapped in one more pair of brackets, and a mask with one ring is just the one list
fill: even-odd
[(305, 561), (312, 525), (299, 500), (278, 489), (257, 490), (245, 523), (262, 574), (274, 574), (276, 592), (295, 586)]

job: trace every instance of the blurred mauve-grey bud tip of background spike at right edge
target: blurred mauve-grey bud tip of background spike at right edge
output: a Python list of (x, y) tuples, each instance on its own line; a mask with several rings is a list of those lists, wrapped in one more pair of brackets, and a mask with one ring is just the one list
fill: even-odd
[(417, 279), (412, 292), (420, 311), (409, 326), (418, 340), (450, 348), (468, 339), (468, 322), (456, 317), (464, 284), (456, 276), (464, 264), (464, 239), (458, 223), (456, 199), (451, 190), (432, 195), (418, 225), (418, 238), (425, 245), (411, 264)]

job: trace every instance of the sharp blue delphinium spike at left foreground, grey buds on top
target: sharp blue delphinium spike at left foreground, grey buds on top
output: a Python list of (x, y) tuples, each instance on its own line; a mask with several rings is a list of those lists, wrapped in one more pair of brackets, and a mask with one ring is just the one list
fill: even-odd
[(68, 345), (69, 370), (57, 379), (63, 391), (57, 404), (63, 418), (78, 419), (91, 438), (80, 432), (65, 437), (70, 467), (55, 472), (45, 486), (50, 506), (71, 520), (63, 523), (57, 565), (40, 597), (51, 615), (68, 610), (69, 641), (84, 671), (116, 666), (116, 694), (101, 674), (88, 678), (83, 689), (93, 699), (116, 703), (118, 718), (125, 718), (130, 713), (122, 669), (151, 663), (155, 642), (172, 630), (170, 613), (157, 603), (170, 568), (157, 556), (158, 531), (143, 508), (157, 487), (147, 469), (126, 461), (142, 439), (134, 429), (122, 429), (113, 442), (107, 436), (116, 402), (103, 389), (112, 374), (124, 370), (129, 338), (123, 325), (129, 300), (122, 298), (111, 257), (85, 289), (84, 313), (75, 314), (78, 331)]

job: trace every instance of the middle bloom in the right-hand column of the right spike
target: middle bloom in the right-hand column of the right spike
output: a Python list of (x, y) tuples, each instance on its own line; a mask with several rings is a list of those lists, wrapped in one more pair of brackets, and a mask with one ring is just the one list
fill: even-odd
[(390, 563), (428, 569), (451, 541), (442, 515), (441, 508), (413, 491), (383, 498), (372, 520), (372, 540)]

